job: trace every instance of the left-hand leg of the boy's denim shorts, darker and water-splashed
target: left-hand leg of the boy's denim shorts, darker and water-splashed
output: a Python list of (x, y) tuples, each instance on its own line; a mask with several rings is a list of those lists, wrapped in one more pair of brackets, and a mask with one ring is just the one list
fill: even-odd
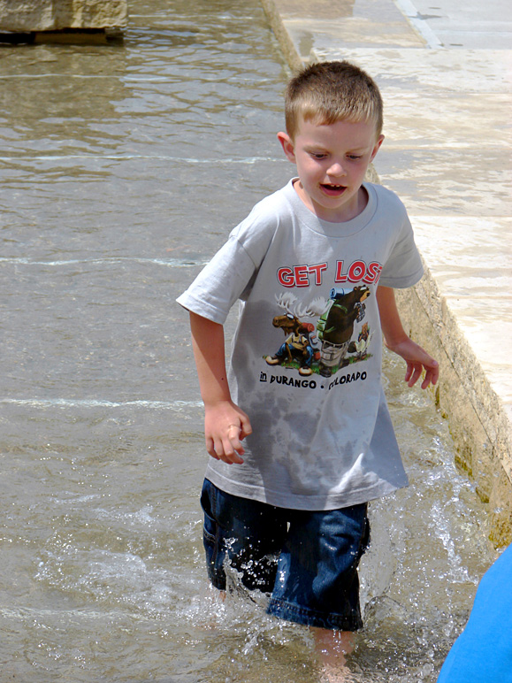
[(226, 494), (209, 480), (203, 484), (203, 542), (212, 585), (225, 591), (225, 564), (240, 572), (249, 590), (271, 593), (275, 555), (287, 532), (283, 510), (266, 503)]

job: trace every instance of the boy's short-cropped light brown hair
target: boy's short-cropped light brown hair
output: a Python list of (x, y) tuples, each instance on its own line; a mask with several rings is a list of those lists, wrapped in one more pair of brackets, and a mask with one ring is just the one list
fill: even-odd
[(374, 122), (382, 132), (382, 97), (377, 84), (350, 62), (320, 62), (298, 73), (285, 92), (287, 134), (294, 139), (301, 119), (330, 125), (340, 120)]

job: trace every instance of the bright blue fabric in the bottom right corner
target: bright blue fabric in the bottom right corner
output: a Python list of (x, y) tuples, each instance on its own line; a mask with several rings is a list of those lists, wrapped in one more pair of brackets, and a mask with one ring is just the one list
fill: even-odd
[(438, 683), (512, 683), (512, 546), (484, 574)]

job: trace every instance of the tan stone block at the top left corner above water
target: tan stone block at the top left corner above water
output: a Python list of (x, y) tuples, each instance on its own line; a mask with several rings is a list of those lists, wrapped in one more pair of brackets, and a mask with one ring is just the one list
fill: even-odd
[(127, 0), (0, 0), (0, 31), (126, 27)]

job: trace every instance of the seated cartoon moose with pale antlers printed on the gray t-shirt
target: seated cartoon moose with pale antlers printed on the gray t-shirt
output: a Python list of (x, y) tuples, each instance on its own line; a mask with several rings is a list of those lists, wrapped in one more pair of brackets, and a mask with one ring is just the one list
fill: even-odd
[(300, 318), (312, 317), (319, 314), (315, 307), (317, 302), (312, 302), (306, 309), (300, 309), (297, 298), (289, 293), (276, 296), (277, 303), (287, 311), (284, 315), (275, 316), (272, 319), (274, 327), (280, 327), (286, 335), (285, 342), (273, 356), (265, 357), (268, 365), (283, 365), (293, 360), (299, 362), (299, 374), (310, 375), (311, 363), (318, 357), (318, 351), (314, 348), (310, 334), (315, 331), (315, 326), (305, 323)]

